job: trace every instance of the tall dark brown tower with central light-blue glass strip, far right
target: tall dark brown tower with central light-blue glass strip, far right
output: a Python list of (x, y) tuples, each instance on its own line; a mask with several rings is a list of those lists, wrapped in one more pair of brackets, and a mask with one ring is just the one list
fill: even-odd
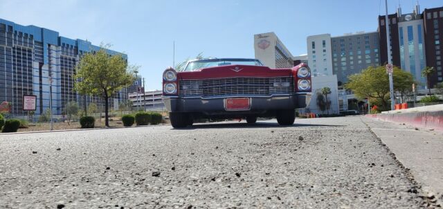
[[(388, 63), (386, 40), (386, 17), (379, 16), (380, 59)], [(410, 14), (402, 14), (401, 8), (395, 14), (388, 15), (390, 28), (390, 46), (392, 64), (413, 74), (421, 84), (419, 88), (429, 88), (422, 70), (426, 67), (435, 68), (431, 75), (431, 88), (435, 83), (442, 82), (442, 61), (440, 56), (441, 37), (443, 28), (443, 7), (425, 9), (420, 13), (419, 5)], [(440, 67), (440, 68), (439, 68)], [(440, 70), (439, 70), (440, 69)], [(439, 74), (440, 72), (440, 74)]]

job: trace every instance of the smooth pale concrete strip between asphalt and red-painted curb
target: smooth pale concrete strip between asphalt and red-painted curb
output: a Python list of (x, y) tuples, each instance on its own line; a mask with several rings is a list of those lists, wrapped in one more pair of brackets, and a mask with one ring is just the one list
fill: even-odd
[(443, 133), (368, 117), (361, 119), (410, 170), (429, 201), (443, 206)]

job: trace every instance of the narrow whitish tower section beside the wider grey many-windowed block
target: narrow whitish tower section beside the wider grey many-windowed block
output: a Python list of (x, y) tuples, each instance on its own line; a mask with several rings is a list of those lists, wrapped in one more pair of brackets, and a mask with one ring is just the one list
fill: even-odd
[(332, 75), (331, 34), (307, 37), (307, 56), (314, 77)]

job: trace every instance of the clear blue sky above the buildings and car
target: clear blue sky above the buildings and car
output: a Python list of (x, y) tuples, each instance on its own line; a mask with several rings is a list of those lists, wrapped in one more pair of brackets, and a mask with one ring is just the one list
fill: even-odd
[[(393, 13), (401, 3), (409, 13), (416, 2), (389, 0), (388, 9)], [(421, 10), (443, 6), (441, 0), (419, 3)], [(97, 45), (111, 43), (111, 49), (128, 54), (129, 63), (141, 66), (147, 89), (161, 89), (162, 72), (172, 66), (173, 41), (176, 63), (199, 52), (253, 58), (253, 34), (271, 31), (298, 55), (306, 53), (309, 35), (376, 31), (384, 10), (383, 0), (0, 1), (2, 19)]]

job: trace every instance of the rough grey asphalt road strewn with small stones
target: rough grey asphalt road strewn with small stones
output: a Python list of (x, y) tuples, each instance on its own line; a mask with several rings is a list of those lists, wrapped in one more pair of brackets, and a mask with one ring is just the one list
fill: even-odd
[(0, 208), (433, 208), (361, 117), (0, 135)]

